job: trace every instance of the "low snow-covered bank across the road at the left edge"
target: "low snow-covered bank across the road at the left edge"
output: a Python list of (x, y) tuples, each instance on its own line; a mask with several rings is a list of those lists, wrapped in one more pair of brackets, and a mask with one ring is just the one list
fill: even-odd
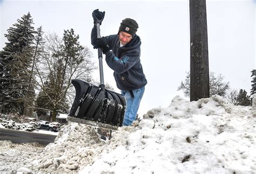
[(8, 129), (32, 132), (36, 130), (37, 126), (38, 126), (37, 122), (34, 122), (34, 121), (21, 124), (12, 120), (5, 120), (0, 118), (0, 128), (8, 128)]

